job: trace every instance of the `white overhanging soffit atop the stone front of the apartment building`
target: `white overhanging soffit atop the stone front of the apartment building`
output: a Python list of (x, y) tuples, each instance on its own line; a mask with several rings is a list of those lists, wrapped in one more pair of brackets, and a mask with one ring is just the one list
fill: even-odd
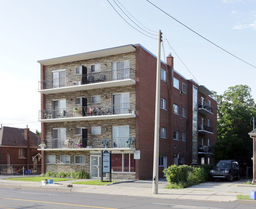
[(80, 61), (80, 60), (86, 60), (86, 59), (93, 59), (97, 57), (106, 57), (111, 55), (117, 55), (122, 53), (129, 53), (135, 51), (135, 46), (130, 44), (126, 46), (118, 46), (114, 48), (109, 49), (101, 49), (97, 51), (90, 51), (85, 53), (80, 53), (76, 55), (69, 55), (64, 57), (57, 57), (52, 59), (46, 59), (46, 60), (39, 60), (40, 64), (43, 64), (45, 66), (47, 65), (53, 65), (53, 64), (61, 64), (66, 62), (74, 62), (74, 61)]

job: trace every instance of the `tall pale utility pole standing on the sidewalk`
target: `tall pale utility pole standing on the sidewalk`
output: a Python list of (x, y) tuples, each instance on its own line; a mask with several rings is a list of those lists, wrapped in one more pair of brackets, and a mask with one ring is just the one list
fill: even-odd
[(160, 78), (161, 78), (161, 30), (158, 31), (158, 56), (156, 68), (156, 113), (154, 138), (153, 194), (158, 194), (158, 162), (159, 162), (159, 115), (160, 115)]

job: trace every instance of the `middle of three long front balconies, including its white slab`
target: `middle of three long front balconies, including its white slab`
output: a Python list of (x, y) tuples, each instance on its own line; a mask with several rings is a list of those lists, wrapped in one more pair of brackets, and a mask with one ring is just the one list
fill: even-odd
[(56, 110), (39, 110), (39, 121), (44, 123), (107, 120), (134, 117), (135, 105), (132, 103), (111, 106), (91, 105), (86, 107), (74, 106), (73, 108)]

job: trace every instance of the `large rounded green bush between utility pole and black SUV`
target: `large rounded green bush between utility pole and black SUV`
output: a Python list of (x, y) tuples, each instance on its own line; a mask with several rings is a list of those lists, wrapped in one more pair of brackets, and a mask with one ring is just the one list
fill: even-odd
[(169, 182), (169, 189), (191, 187), (208, 180), (208, 173), (203, 166), (171, 165), (163, 172)]

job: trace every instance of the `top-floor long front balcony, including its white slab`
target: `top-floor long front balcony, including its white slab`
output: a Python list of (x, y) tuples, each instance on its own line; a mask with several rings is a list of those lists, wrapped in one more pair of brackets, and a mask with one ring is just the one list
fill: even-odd
[(135, 84), (135, 70), (111, 70), (39, 81), (38, 92), (54, 94)]

